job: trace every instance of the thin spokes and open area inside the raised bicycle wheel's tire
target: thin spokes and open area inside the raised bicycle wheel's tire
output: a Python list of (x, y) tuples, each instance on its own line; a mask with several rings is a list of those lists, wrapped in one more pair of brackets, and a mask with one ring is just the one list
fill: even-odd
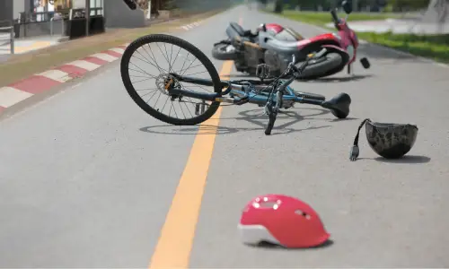
[[(162, 43), (162, 44), (159, 44)], [(192, 92), (214, 92), (213, 86), (190, 82), (178, 82), (171, 74), (190, 75), (198, 78), (210, 77), (206, 66), (188, 48), (166, 42), (150, 42), (136, 48), (129, 57), (128, 76), (134, 91), (150, 108), (166, 117), (189, 119), (198, 117), (210, 106), (211, 101), (197, 100), (186, 96), (172, 96), (169, 86)], [(184, 59), (180, 59), (184, 58)], [(203, 66), (203, 67), (201, 67)], [(140, 85), (137, 87), (136, 85)], [(165, 99), (165, 100), (163, 100)], [(178, 104), (176, 104), (178, 103)], [(201, 106), (199, 109), (196, 106)]]

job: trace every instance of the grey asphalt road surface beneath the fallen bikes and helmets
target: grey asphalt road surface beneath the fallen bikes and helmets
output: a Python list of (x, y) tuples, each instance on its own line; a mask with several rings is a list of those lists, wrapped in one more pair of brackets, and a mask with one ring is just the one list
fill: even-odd
[[(245, 28), (278, 22), (305, 37), (320, 32), (236, 7), (180, 37), (210, 56), (227, 22), (241, 18)], [(356, 79), (294, 83), (329, 98), (350, 94), (347, 120), (297, 105), (271, 136), (262, 109), (250, 105), (223, 108), (216, 135), (165, 125), (128, 97), (119, 63), (0, 121), (0, 266), (145, 268), (152, 257), (209, 268), (449, 266), (449, 69), (372, 45), (360, 53), (372, 68), (357, 65)], [(377, 158), (362, 131), (360, 160), (348, 161), (366, 117), (418, 125), (408, 158)], [(191, 242), (201, 171), (207, 185)], [(333, 244), (242, 245), (242, 207), (266, 193), (311, 204)]]

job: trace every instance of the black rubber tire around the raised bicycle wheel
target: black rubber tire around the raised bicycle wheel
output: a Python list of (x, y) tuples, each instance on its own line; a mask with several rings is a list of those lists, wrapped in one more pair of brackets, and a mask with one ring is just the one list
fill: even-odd
[(159, 112), (158, 110), (152, 108), (149, 106), (145, 100), (143, 100), (137, 93), (136, 89), (134, 88), (133, 83), (131, 82), (129, 71), (128, 71), (128, 65), (131, 56), (133, 56), (133, 53), (142, 46), (149, 45), (150, 43), (167, 43), (172, 44), (175, 46), (178, 46), (180, 48), (185, 49), (188, 51), (191, 55), (196, 56), (201, 64), (203, 64), (206, 67), (207, 73), (210, 75), (210, 78), (212, 82), (214, 83), (214, 91), (215, 92), (221, 92), (222, 87), (220, 85), (220, 76), (218, 72), (216, 71), (216, 67), (212, 64), (210, 59), (197, 47), (195, 47), (193, 44), (189, 43), (188, 41), (184, 39), (180, 39), (177, 37), (173, 37), (171, 35), (166, 34), (152, 34), (152, 35), (146, 35), (144, 37), (141, 37), (139, 39), (134, 40), (128, 45), (128, 48), (125, 49), (125, 52), (123, 53), (123, 56), (121, 58), (120, 62), (120, 74), (123, 84), (125, 85), (126, 90), (128, 91), (129, 96), (132, 100), (134, 100), (139, 106), (139, 108), (142, 108), (147, 114), (150, 116), (159, 119), (167, 124), (171, 124), (174, 126), (194, 126), (198, 125), (204, 121), (206, 121), (208, 118), (214, 116), (216, 113), (216, 110), (220, 106), (219, 101), (212, 101), (212, 103), (208, 106), (207, 110), (197, 117), (190, 117), (190, 118), (175, 118), (175, 117), (169, 117), (164, 115), (163, 113)]

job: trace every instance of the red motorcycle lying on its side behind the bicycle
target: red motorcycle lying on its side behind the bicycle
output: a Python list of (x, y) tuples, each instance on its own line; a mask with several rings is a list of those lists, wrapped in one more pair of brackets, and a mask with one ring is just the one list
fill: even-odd
[[(344, 1), (343, 10), (351, 13), (352, 4)], [(338, 33), (325, 33), (311, 39), (304, 39), (295, 30), (276, 23), (261, 24), (256, 33), (252, 33), (231, 22), (226, 29), (228, 39), (214, 44), (212, 56), (219, 60), (233, 60), (239, 72), (256, 75), (257, 66), (265, 65), (271, 76), (278, 76), (286, 70), (292, 55), (297, 59), (295, 65), (301, 65), (307, 55), (326, 48), (324, 55), (309, 62), (300, 79), (337, 74), (345, 66), (351, 73), (351, 65), (357, 59), (357, 34), (348, 27), (348, 16), (339, 19), (335, 10), (330, 13)], [(367, 58), (360, 62), (365, 68), (370, 67)]]

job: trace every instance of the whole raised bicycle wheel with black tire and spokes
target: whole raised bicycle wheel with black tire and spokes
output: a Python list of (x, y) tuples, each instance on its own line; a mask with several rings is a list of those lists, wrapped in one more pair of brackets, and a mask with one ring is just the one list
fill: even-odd
[[(166, 55), (156, 56), (161, 52)], [(134, 59), (139, 61), (134, 64), (131, 62)], [(177, 60), (180, 60), (178, 62), (180, 67), (174, 66)], [(168, 65), (164, 67), (163, 62)], [(197, 69), (200, 65), (204, 66), (203, 72)], [(168, 124), (197, 125), (212, 117), (220, 106), (218, 101), (196, 100), (180, 95), (173, 96), (166, 90), (167, 83), (171, 81), (170, 84), (181, 90), (206, 90), (209, 93), (222, 91), (220, 76), (215, 66), (201, 50), (184, 39), (164, 34), (148, 35), (136, 39), (125, 49), (120, 62), (120, 74), (132, 100), (152, 117)], [(172, 74), (209, 79), (213, 86), (206, 87), (178, 82)], [(152, 79), (154, 82), (150, 82)], [(135, 85), (136, 83), (144, 84), (145, 88), (138, 89), (142, 86), (138, 87)], [(145, 94), (141, 96), (139, 93)], [(149, 100), (147, 100), (148, 97)], [(155, 100), (154, 104), (150, 102), (152, 99)], [(159, 107), (157, 107), (158, 104)], [(189, 109), (189, 105), (193, 105), (193, 109)], [(167, 110), (168, 112), (166, 112)]]

